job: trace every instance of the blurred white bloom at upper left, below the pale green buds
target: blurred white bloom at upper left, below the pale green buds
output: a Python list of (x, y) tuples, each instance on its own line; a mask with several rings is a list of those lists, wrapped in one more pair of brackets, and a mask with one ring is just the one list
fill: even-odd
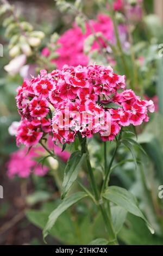
[(4, 66), (5, 71), (7, 71), (11, 76), (16, 75), (22, 66), (26, 63), (26, 55), (21, 54), (10, 61), (10, 63)]

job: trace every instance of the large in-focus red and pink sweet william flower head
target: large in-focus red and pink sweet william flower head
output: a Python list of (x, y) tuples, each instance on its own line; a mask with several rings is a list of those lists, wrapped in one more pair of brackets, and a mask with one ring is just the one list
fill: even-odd
[(22, 117), (17, 144), (30, 147), (47, 134), (55, 143), (71, 143), (80, 134), (99, 133), (111, 141), (122, 126), (148, 121), (153, 101), (141, 100), (125, 89), (126, 77), (110, 66), (67, 66), (24, 80), (18, 87), (17, 107)]

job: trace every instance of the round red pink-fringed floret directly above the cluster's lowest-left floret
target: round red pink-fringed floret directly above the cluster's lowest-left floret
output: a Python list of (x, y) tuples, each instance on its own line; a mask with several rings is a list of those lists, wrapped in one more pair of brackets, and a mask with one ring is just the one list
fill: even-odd
[(30, 101), (29, 109), (32, 117), (46, 117), (49, 112), (49, 103), (45, 98), (37, 98), (34, 97), (32, 101)]

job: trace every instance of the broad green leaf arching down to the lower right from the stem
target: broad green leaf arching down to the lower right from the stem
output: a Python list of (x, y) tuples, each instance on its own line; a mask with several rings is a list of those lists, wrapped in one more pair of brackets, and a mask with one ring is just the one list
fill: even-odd
[(115, 203), (118, 206), (126, 209), (131, 214), (142, 218), (146, 222), (148, 229), (151, 231), (152, 234), (154, 234), (154, 230), (151, 227), (151, 224), (149, 224), (149, 222), (146, 220), (145, 216), (139, 209), (136, 198), (125, 188), (110, 186), (103, 193), (103, 197), (111, 201), (112, 203)]

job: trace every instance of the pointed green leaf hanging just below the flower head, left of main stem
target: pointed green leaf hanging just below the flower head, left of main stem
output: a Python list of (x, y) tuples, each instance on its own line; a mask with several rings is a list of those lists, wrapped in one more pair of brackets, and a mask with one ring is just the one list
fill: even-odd
[(62, 184), (61, 199), (65, 198), (68, 190), (70, 190), (74, 181), (76, 181), (79, 170), (82, 166), (86, 154), (81, 154), (81, 151), (75, 151), (68, 159), (67, 166), (64, 172), (64, 181)]

